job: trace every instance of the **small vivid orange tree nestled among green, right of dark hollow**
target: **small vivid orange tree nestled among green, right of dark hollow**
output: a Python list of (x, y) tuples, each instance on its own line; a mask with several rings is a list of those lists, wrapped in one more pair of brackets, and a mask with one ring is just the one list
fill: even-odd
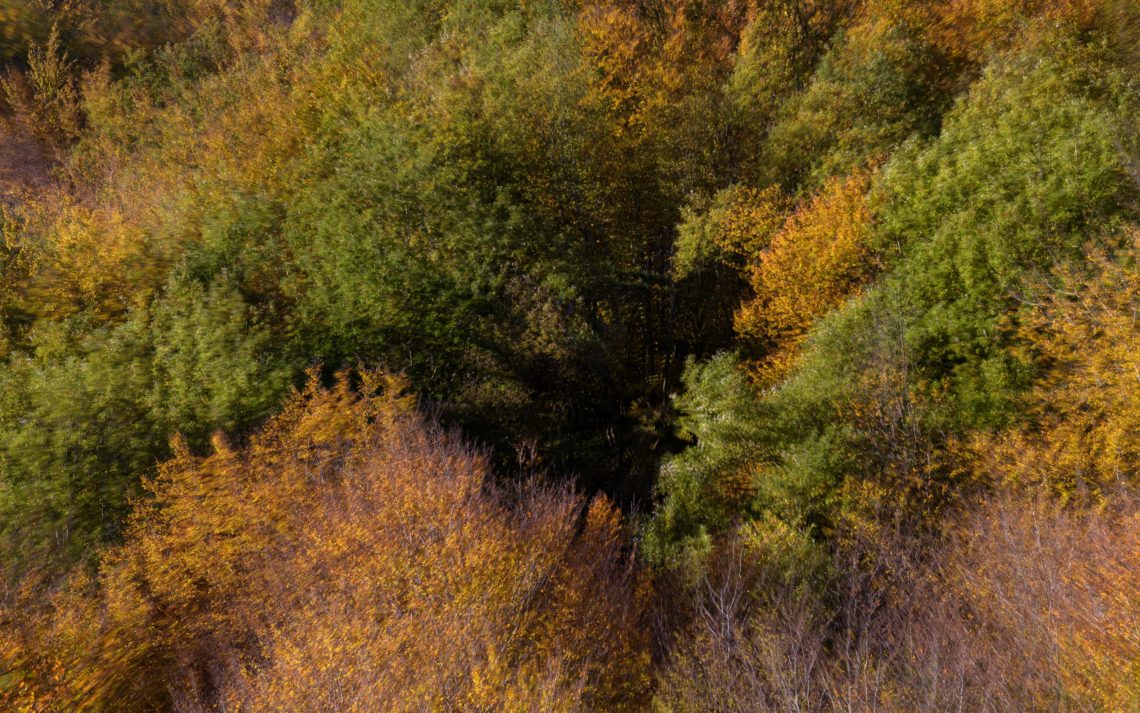
[(751, 270), (755, 297), (736, 313), (736, 331), (768, 347), (758, 365), (775, 378), (790, 367), (812, 324), (864, 284), (874, 269), (870, 246), (871, 175), (831, 179), (772, 238)]

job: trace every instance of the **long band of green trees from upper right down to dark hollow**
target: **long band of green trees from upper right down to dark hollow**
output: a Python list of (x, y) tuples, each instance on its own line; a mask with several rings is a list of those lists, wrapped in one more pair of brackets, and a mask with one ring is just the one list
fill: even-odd
[[(1034, 276), (1134, 219), (1134, 106), (1096, 46), (996, 60), (936, 140), (885, 167), (872, 241), (888, 269), (809, 333), (796, 371), (749, 404), (731, 359), (691, 370), (679, 411), (733, 426), (697, 428), (663, 467), (651, 551), (760, 513), (828, 533), (872, 502), (936, 524), (966, 486), (952, 440), (1020, 413), (1032, 364), (1007, 325)], [(749, 495), (725, 505), (740, 479)]]

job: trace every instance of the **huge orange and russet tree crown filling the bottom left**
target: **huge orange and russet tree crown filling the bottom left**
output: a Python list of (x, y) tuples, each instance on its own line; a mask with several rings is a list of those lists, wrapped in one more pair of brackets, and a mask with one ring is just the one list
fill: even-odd
[[(401, 380), (308, 388), (150, 484), (98, 583), (5, 619), (10, 710), (620, 711), (645, 592), (620, 518), (502, 491)], [(583, 517), (580, 517), (583, 516)], [(170, 700), (165, 700), (165, 697)], [(133, 705), (132, 705), (133, 704)], [(210, 708), (212, 710), (212, 708)]]

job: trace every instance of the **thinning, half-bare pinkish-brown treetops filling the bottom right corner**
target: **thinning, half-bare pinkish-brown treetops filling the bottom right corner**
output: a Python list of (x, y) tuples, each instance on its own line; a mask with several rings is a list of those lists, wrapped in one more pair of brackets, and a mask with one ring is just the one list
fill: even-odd
[(654, 710), (1134, 707), (1137, 511), (1119, 504), (1073, 512), (999, 499), (961, 518), (936, 565), (895, 561), (874, 590), (834, 558), (830, 588), (846, 603), (832, 619), (765, 582), (763, 558), (727, 546), (659, 674)]

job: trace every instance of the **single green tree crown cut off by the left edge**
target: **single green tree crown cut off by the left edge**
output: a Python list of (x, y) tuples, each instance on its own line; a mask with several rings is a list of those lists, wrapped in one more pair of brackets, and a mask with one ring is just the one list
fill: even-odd
[(0, 508), (16, 572), (115, 533), (135, 472), (162, 443), (139, 399), (147, 374), (137, 326), (83, 327), (76, 318), (38, 329), (32, 354), (9, 357), (3, 373)]

